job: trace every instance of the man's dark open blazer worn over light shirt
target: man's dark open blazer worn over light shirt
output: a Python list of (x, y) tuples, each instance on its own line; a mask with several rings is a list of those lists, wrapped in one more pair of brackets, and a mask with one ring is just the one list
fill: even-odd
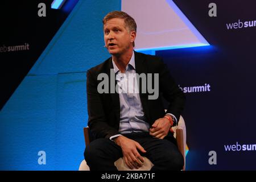
[[(162, 59), (143, 53), (134, 53), (135, 69), (138, 74), (159, 73), (159, 97), (156, 100), (148, 100), (148, 95), (150, 94), (148, 92), (141, 92), (142, 83), (140, 82), (139, 96), (141, 98), (144, 114), (147, 118), (146, 122), (152, 125), (156, 119), (162, 118), (165, 115), (160, 93), (162, 93), (163, 97), (170, 103), (167, 113), (174, 114), (177, 120), (179, 120), (184, 107), (185, 96), (171, 77)], [(119, 94), (110, 93), (110, 69), (113, 69), (111, 57), (104, 61), (104, 63), (87, 71), (88, 126), (93, 134), (93, 138), (109, 138), (119, 134)], [(97, 80), (97, 76), (100, 73), (106, 73), (109, 76), (109, 93), (100, 94), (97, 92), (97, 86), (102, 81)], [(154, 85), (154, 83), (152, 83), (152, 85)]]

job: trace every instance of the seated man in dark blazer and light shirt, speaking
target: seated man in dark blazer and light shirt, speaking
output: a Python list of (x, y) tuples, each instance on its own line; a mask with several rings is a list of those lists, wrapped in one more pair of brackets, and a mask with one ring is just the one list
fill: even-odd
[[(183, 92), (159, 57), (133, 50), (137, 25), (131, 16), (113, 11), (103, 24), (105, 47), (112, 57), (87, 72), (88, 126), (94, 140), (84, 156), (90, 170), (117, 170), (114, 162), (122, 156), (130, 169), (143, 166), (142, 156), (154, 164), (151, 170), (182, 169), (183, 156), (170, 128), (183, 110)], [(134, 79), (129, 75), (135, 73), (147, 75), (147, 86), (155, 85), (170, 102), (167, 112), (160, 97), (150, 99), (152, 92), (143, 92), (145, 81), (130, 84)], [(99, 91), (102, 74), (109, 78), (109, 87), (101, 85), (102, 89), (109, 92)], [(139, 93), (125, 92), (125, 85)]]

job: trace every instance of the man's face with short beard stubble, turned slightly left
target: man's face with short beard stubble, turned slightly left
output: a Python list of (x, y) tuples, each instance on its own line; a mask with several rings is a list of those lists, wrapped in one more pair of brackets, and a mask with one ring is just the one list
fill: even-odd
[(111, 55), (122, 55), (133, 49), (135, 31), (129, 31), (125, 22), (120, 18), (113, 18), (104, 24), (105, 46)]

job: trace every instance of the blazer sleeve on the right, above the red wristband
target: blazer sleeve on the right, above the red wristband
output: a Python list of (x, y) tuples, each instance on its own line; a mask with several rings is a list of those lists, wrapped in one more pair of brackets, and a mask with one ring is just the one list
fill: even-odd
[(185, 95), (172, 78), (167, 65), (163, 63), (162, 59), (160, 59), (158, 65), (159, 89), (163, 93), (163, 97), (169, 102), (166, 113), (174, 114), (178, 122), (184, 109)]

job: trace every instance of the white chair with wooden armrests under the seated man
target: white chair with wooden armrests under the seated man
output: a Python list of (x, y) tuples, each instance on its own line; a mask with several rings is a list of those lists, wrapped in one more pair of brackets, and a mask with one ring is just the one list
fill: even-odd
[[(174, 130), (174, 137), (177, 140), (177, 146), (179, 148), (179, 151), (183, 155), (184, 158), (184, 166), (183, 171), (185, 170), (185, 146), (186, 146), (186, 126), (183, 117), (180, 116), (180, 120), (178, 122), (178, 126), (172, 127), (172, 130)], [(89, 140), (89, 127), (84, 127), (84, 137), (85, 137), (85, 145), (88, 146), (90, 143)], [(115, 166), (119, 171), (148, 171), (151, 169), (154, 164), (151, 163), (149, 159), (146, 157), (144, 158), (144, 164), (141, 168), (138, 169), (130, 169), (126, 166), (125, 162), (123, 161), (123, 158), (119, 158), (117, 161), (115, 161)], [(90, 168), (86, 164), (85, 160), (82, 160), (79, 171), (89, 171)]]

